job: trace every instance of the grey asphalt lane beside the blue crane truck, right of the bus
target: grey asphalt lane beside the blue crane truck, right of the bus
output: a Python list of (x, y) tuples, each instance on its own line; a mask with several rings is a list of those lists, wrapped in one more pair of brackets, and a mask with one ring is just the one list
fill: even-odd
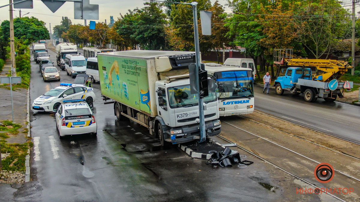
[(322, 98), (310, 103), (303, 99), (303, 94), (295, 96), (285, 91), (279, 96), (273, 88), (269, 94), (262, 93), (262, 89), (255, 85), (255, 110), (360, 143), (359, 106), (325, 102)]

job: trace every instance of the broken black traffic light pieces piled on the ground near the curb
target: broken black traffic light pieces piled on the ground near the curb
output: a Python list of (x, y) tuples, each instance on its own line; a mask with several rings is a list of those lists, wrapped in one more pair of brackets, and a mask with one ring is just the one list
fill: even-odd
[(231, 150), (229, 147), (225, 147), (222, 151), (210, 151), (209, 153), (212, 153), (212, 155), (207, 161), (207, 165), (231, 167), (238, 164), (238, 167), (244, 168), (253, 163), (252, 161), (243, 161), (242, 159), (246, 158), (246, 156), (240, 155), (238, 151)]

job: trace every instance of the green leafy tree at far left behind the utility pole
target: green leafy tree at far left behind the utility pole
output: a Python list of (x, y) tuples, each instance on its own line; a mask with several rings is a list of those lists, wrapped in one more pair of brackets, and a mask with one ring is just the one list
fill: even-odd
[[(4, 20), (1, 23), (0, 40), (8, 43), (10, 38), (10, 22)], [(28, 44), (38, 41), (50, 39), (49, 31), (45, 27), (45, 23), (35, 17), (24, 17), (14, 19), (14, 36), (22, 38)], [(28, 45), (27, 44), (27, 45)]]

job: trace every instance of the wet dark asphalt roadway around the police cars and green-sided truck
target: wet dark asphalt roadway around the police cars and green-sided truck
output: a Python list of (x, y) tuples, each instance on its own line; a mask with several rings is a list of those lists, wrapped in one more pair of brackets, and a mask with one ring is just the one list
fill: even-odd
[[(55, 53), (49, 53), (56, 65)], [(60, 82), (73, 81), (60, 71), (60, 82), (44, 82), (38, 65), (31, 63), (31, 103)], [(236, 166), (214, 170), (177, 147), (162, 150), (144, 127), (116, 121), (112, 105), (103, 104), (99, 84), (93, 87), (96, 138), (60, 140), (53, 114), (30, 111), (32, 181), (18, 188), (15, 201), (277, 201), (282, 197), (282, 192), (270, 192), (259, 184), (274, 181), (264, 163), (241, 172)], [(242, 179), (247, 179), (246, 185)]]

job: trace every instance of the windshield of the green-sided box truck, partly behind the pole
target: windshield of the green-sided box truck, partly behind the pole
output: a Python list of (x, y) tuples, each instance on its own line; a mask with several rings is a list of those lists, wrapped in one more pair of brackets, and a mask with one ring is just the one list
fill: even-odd
[[(176, 86), (167, 89), (169, 95), (169, 103), (171, 108), (198, 106), (198, 94), (190, 93), (190, 84)], [(207, 97), (203, 99), (204, 103), (216, 101), (215, 92), (209, 92)]]

